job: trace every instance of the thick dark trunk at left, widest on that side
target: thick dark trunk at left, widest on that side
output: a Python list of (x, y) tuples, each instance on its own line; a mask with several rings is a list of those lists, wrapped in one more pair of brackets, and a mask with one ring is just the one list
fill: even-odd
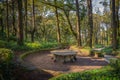
[(18, 3), (18, 30), (17, 30), (17, 38), (18, 45), (23, 45), (23, 13), (22, 13), (22, 0), (17, 0)]

